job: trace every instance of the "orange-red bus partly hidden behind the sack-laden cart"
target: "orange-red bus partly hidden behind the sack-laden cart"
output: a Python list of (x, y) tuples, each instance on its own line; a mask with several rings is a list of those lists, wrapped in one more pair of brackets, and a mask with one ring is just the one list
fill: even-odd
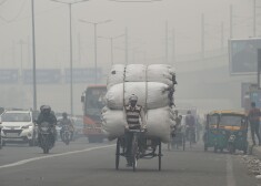
[(83, 135), (89, 143), (102, 143), (101, 110), (106, 105), (106, 85), (89, 85), (81, 96), (83, 108)]

